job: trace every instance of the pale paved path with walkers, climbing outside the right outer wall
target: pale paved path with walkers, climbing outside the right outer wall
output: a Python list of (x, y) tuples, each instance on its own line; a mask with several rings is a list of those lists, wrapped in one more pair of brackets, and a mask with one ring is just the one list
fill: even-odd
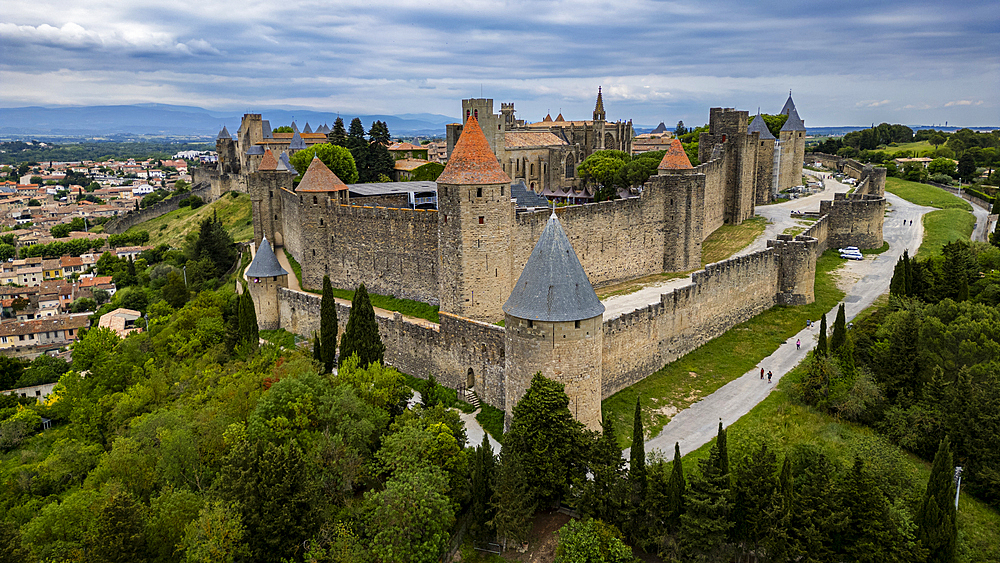
[[(923, 224), (920, 217), (933, 208), (912, 204), (892, 194), (886, 194), (890, 212), (885, 218), (883, 234), (889, 242), (889, 250), (862, 261), (850, 261), (840, 270), (841, 276), (850, 276), (858, 281), (844, 297), (848, 320), (853, 319), (880, 295), (888, 291), (892, 271), (904, 249), (915, 253), (923, 239)], [(782, 204), (784, 205), (784, 204)], [(774, 206), (770, 206), (774, 207)], [(913, 220), (913, 225), (909, 224)], [(907, 224), (904, 226), (903, 222)], [(837, 308), (827, 314), (827, 322), (832, 326)], [(765, 358), (753, 370), (723, 386), (721, 389), (681, 411), (664, 427), (660, 434), (646, 442), (646, 451), (660, 449), (670, 453), (674, 442), (679, 442), (681, 452), (687, 454), (715, 437), (719, 420), (729, 426), (741, 416), (750, 412), (764, 400), (772, 389), (805, 357), (806, 352), (816, 345), (818, 324), (811, 329), (804, 328), (789, 338), (773, 354)], [(802, 349), (795, 349), (795, 340), (802, 340)], [(760, 368), (770, 370), (774, 378), (769, 385), (760, 380)], [(628, 457), (628, 451), (625, 454)]]

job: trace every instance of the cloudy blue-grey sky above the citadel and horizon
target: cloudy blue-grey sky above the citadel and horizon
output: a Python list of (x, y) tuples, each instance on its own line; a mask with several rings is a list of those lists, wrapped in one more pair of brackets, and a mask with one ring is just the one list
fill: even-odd
[(1000, 125), (997, 0), (9, 0), (0, 107), (158, 102), (458, 116)]

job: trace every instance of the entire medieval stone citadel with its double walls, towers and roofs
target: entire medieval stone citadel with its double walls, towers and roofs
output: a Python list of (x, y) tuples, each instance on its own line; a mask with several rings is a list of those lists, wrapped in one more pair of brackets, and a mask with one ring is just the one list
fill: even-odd
[[(318, 159), (293, 187), (288, 156), (323, 133), (272, 134), (248, 114), (235, 141), (220, 134), (210, 180), (216, 193), (251, 196), (259, 249), (247, 275), (261, 328), (319, 329), (319, 297), (288, 288), (273, 244), (301, 264), (305, 287), (328, 275), (335, 287), (364, 283), (440, 305), (439, 324), (378, 317), (386, 362), (399, 370), (474, 390), (508, 417), (541, 371), (566, 385), (571, 412), (596, 429), (603, 398), (776, 304), (811, 302), (819, 253), (883, 243), (885, 170), (838, 161), (829, 164), (857, 188), (822, 202), (808, 231), (700, 269), (706, 237), (800, 183), (805, 126), (791, 96), (778, 139), (759, 115), (713, 108), (703, 164), (692, 167), (677, 142), (639, 193), (555, 209), (537, 194), (587, 198), (576, 165), (596, 150), (628, 151), (631, 123), (607, 123), (600, 93), (592, 121), (527, 124), (513, 104), (494, 114), (488, 99), (462, 107), (463, 123), (448, 126), (444, 172), (420, 188), (436, 209), (347, 186)], [(612, 318), (592, 288), (689, 271), (690, 285)], [(347, 311), (338, 316), (346, 322)]]

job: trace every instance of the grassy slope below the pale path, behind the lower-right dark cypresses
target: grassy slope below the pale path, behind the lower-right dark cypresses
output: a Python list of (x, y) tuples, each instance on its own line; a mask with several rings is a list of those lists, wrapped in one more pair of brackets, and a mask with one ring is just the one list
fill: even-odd
[[(839, 421), (812, 407), (794, 401), (788, 394), (791, 384), (800, 377), (800, 364), (781, 379), (778, 388), (726, 430), (729, 462), (735, 464), (744, 452), (756, 444), (767, 443), (779, 452), (798, 444), (810, 444), (823, 449), (842, 467), (853, 462), (854, 456), (887, 460), (878, 467), (883, 476), (891, 475), (897, 482), (910, 483), (922, 494), (930, 478), (931, 464), (900, 450), (865, 426)], [(713, 442), (684, 456), (684, 472), (697, 471), (696, 460), (708, 457)], [(870, 452), (884, 455), (871, 456)], [(682, 452), (685, 453), (685, 452)], [(673, 458), (673, 452), (668, 452)], [(778, 454), (779, 460), (783, 457)], [(1000, 561), (1000, 513), (975, 498), (963, 494), (958, 507), (958, 556), (956, 561)]]

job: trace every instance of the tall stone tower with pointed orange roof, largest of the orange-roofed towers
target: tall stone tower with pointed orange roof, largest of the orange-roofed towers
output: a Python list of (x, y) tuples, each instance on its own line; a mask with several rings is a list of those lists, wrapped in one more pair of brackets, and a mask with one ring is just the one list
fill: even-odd
[(510, 178), (470, 115), (438, 182), (441, 310), (496, 322), (510, 291)]

